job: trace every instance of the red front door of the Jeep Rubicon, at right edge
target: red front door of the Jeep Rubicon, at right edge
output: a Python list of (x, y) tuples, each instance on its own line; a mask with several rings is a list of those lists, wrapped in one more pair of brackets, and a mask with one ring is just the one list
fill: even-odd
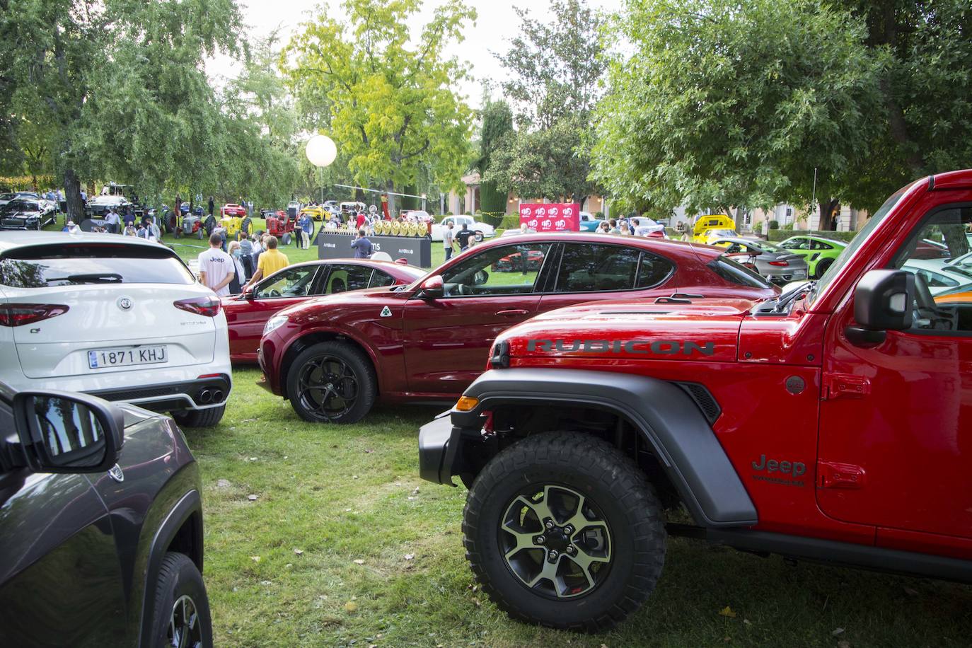
[[(972, 191), (960, 195), (972, 201)], [(967, 250), (968, 204), (924, 208), (887, 267), (913, 260), (921, 238), (949, 240), (955, 256)], [(912, 547), (972, 538), (972, 304), (935, 302), (913, 305), (910, 329), (855, 346), (843, 332), (853, 319), (848, 300), (827, 336), (817, 503), (829, 516), (877, 527), (888, 547), (904, 537)]]

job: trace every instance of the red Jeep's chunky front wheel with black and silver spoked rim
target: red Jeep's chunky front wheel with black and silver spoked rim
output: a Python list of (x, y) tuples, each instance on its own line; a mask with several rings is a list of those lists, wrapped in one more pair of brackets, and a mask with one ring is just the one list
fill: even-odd
[(608, 443), (577, 432), (530, 436), (473, 482), (466, 557), (510, 617), (603, 631), (655, 588), (665, 563), (661, 508), (638, 466)]

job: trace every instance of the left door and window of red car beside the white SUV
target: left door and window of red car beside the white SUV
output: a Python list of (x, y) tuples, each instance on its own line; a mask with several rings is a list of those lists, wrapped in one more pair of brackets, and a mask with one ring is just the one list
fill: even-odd
[[(256, 359), (263, 326), (278, 311), (317, 294), (318, 273), (322, 266), (302, 265), (284, 268), (257, 284), (252, 299), (238, 298), (244, 307), (226, 311), (229, 326), (229, 355)], [(325, 272), (327, 269), (325, 268)], [(234, 305), (235, 306), (235, 305)]]

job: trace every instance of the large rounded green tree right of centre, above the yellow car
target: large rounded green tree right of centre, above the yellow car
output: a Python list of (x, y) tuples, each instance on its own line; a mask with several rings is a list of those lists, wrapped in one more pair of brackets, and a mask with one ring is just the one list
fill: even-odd
[[(660, 209), (821, 198), (829, 214), (879, 131), (879, 73), (859, 20), (817, 0), (630, 0), (594, 177)], [(815, 184), (816, 172), (816, 184)]]

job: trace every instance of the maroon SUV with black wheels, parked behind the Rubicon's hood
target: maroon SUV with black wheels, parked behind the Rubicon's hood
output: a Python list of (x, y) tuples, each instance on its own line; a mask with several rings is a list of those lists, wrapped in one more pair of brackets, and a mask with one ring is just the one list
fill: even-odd
[(608, 234), (524, 234), (476, 245), (405, 287), (313, 299), (267, 321), (263, 387), (302, 418), (353, 423), (376, 399), (455, 398), (503, 329), (584, 301), (767, 299), (779, 290), (721, 248)]

